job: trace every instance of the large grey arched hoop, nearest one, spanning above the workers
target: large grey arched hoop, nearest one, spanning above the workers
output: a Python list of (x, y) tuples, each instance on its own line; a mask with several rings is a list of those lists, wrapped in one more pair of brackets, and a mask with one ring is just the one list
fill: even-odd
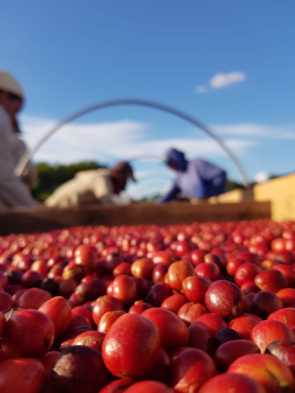
[(218, 136), (216, 136), (211, 130), (209, 130), (207, 127), (205, 127), (205, 125), (203, 125), (200, 121), (192, 118), (191, 116), (185, 114), (184, 112), (181, 112), (180, 110), (168, 107), (167, 105), (164, 105), (164, 104), (159, 104), (159, 103), (155, 103), (153, 101), (147, 101), (147, 100), (143, 100), (143, 99), (116, 99), (116, 100), (111, 100), (111, 101), (104, 101), (104, 102), (101, 102), (98, 104), (91, 105), (90, 107), (83, 108), (83, 109), (79, 110), (78, 112), (75, 112), (74, 114), (68, 116), (67, 118), (65, 118), (61, 122), (57, 123), (57, 125), (55, 125), (55, 127), (53, 127), (53, 129), (46, 132), (41, 137), (39, 142), (37, 142), (37, 144), (35, 145), (35, 147), (31, 151), (26, 151), (23, 154), (23, 156), (20, 158), (19, 162), (17, 163), (17, 166), (15, 167), (15, 174), (17, 176), (20, 176), (22, 174), (22, 171), (26, 167), (26, 164), (28, 163), (30, 158), (43, 145), (43, 143), (48, 138), (50, 138), (50, 136), (52, 136), (52, 134), (54, 134), (61, 127), (63, 127), (67, 123), (70, 123), (73, 120), (76, 120), (77, 118), (79, 118), (85, 114), (93, 112), (94, 110), (99, 110), (99, 109), (108, 108), (108, 107), (114, 107), (114, 106), (118, 106), (118, 105), (140, 105), (140, 106), (144, 106), (144, 107), (159, 109), (164, 112), (168, 112), (170, 114), (178, 116), (179, 118), (188, 121), (189, 123), (193, 124), (194, 126), (199, 127), (207, 135), (209, 135), (211, 138), (213, 138), (219, 144), (219, 146), (227, 153), (227, 155), (230, 157), (230, 159), (234, 163), (236, 169), (239, 171), (239, 173), (242, 177), (244, 186), (245, 187), (249, 186), (247, 176), (246, 176), (242, 166), (238, 162), (237, 158), (234, 156), (234, 154), (232, 154), (230, 149), (223, 143), (223, 141), (221, 139), (219, 139)]

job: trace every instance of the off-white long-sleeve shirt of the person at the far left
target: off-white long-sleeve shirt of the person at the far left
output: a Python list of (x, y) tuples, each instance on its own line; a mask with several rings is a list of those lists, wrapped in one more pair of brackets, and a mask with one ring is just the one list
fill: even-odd
[(0, 105), (0, 200), (7, 206), (37, 206), (30, 191), (13, 173), (19, 140), (13, 133), (11, 119)]

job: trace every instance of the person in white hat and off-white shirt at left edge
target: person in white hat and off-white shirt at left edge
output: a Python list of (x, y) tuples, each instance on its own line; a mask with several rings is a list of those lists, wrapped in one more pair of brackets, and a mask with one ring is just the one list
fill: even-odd
[(20, 177), (15, 176), (19, 140), (12, 119), (22, 107), (24, 94), (18, 82), (0, 71), (0, 202), (8, 207), (38, 206)]

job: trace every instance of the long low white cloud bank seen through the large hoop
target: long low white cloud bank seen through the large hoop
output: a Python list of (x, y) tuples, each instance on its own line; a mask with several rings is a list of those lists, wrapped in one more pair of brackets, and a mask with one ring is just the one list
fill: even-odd
[[(33, 117), (22, 118), (24, 139), (30, 148), (34, 147), (43, 133), (55, 121)], [(131, 120), (110, 123), (68, 124), (52, 135), (34, 155), (33, 160), (71, 163), (81, 160), (97, 160), (114, 163), (117, 160), (131, 160), (135, 157), (161, 158), (162, 152), (171, 146), (185, 151), (189, 158), (196, 156), (225, 156), (219, 145), (211, 139), (197, 139), (195, 136), (168, 139), (147, 139), (149, 125)], [(198, 134), (196, 133), (196, 136)], [(244, 154), (254, 141), (228, 138), (224, 141), (236, 154)]]

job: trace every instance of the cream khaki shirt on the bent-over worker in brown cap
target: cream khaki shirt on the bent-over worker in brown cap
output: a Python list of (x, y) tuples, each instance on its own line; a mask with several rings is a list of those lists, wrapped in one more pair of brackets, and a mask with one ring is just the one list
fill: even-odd
[(129, 200), (114, 195), (109, 169), (77, 172), (73, 179), (59, 186), (44, 202), (46, 206), (71, 208), (82, 204), (129, 204)]

